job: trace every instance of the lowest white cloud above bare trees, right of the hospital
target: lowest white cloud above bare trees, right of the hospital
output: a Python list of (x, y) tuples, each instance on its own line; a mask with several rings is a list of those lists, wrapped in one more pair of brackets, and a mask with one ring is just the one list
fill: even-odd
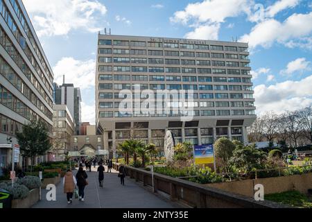
[(300, 81), (288, 80), (275, 85), (254, 87), (255, 105), (259, 114), (297, 110), (312, 104), (312, 75)]

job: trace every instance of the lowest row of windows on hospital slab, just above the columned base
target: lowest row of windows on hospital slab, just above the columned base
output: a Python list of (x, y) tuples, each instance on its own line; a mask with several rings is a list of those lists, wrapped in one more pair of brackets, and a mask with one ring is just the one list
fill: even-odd
[(193, 110), (166, 112), (119, 112), (101, 111), (100, 118), (112, 117), (212, 117), (212, 116), (243, 116), (254, 115), (254, 110)]

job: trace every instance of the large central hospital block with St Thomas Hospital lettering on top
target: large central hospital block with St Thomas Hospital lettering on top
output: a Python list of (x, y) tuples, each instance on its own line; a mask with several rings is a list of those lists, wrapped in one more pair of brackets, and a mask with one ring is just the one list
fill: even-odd
[[(166, 130), (176, 142), (201, 145), (228, 137), (247, 144), (246, 127), (256, 119), (250, 70), (246, 43), (99, 33), (97, 133), (110, 155), (130, 137), (163, 147)], [(153, 90), (154, 98), (167, 100), (146, 105), (142, 101), (150, 95), (135, 89)], [(193, 92), (184, 95), (182, 89)], [(163, 110), (135, 109), (143, 106)]]

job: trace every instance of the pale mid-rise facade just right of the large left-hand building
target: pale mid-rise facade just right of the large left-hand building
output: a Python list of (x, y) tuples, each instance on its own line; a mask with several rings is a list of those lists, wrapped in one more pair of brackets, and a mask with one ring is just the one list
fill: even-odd
[(64, 161), (71, 150), (71, 137), (75, 132), (73, 117), (67, 105), (53, 105), (53, 148), (51, 161)]

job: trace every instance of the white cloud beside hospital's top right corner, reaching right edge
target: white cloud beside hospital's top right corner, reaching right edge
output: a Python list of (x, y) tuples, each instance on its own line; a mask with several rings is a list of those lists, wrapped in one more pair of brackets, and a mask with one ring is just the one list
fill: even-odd
[(263, 46), (268, 48), (273, 43), (287, 44), (297, 38), (307, 37), (312, 32), (312, 12), (309, 14), (293, 14), (284, 22), (266, 19), (252, 28), (250, 34), (245, 34), (240, 42), (249, 42), (250, 47)]

